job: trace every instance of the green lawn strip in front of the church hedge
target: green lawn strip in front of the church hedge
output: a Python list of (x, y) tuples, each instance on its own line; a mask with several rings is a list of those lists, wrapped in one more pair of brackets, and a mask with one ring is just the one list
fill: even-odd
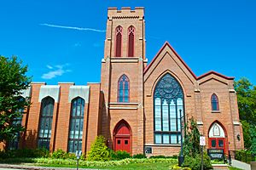
[[(36, 165), (40, 167), (76, 167), (73, 165), (57, 165), (57, 164), (29, 164)], [(80, 168), (95, 168), (95, 169), (149, 169), (149, 170), (166, 170), (172, 163), (167, 162), (156, 162), (156, 163), (131, 163), (128, 165), (114, 166), (114, 167), (84, 167), (79, 166)]]

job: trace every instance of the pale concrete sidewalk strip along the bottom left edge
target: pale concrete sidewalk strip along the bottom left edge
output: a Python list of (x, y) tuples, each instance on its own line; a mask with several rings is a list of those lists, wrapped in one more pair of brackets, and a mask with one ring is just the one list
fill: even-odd
[[(11, 165), (11, 164), (0, 164), (0, 170), (76, 170), (71, 167), (35, 167), (26, 165)], [(96, 170), (90, 168), (79, 168), (79, 170)]]

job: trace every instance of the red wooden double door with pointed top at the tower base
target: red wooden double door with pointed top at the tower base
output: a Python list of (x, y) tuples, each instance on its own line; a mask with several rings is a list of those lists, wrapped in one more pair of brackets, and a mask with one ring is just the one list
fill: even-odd
[(125, 150), (131, 152), (131, 133), (125, 123), (121, 123), (116, 129), (114, 137), (114, 150)]

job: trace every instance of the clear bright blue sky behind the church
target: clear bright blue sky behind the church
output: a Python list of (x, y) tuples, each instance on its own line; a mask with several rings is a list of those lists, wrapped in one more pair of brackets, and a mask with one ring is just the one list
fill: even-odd
[(168, 41), (196, 76), (256, 84), (255, 0), (1, 0), (0, 54), (22, 59), (33, 82), (100, 82), (108, 7), (145, 8), (148, 64)]

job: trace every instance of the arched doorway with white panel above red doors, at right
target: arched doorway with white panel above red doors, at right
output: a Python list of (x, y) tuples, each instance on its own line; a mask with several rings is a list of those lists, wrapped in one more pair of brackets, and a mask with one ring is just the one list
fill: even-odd
[(222, 149), (227, 154), (229, 147), (227, 133), (220, 122), (212, 122), (209, 127), (208, 138), (209, 149)]

